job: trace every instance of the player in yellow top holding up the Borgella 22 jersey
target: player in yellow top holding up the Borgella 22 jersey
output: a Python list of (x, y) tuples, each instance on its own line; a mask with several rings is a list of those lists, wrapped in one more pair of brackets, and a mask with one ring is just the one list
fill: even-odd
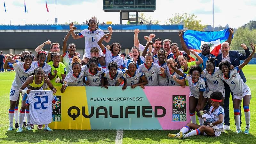
[[(30, 126), (30, 116), (29, 116), (29, 105), (26, 105), (26, 100), (27, 100), (27, 94), (31, 92), (31, 90), (43, 90), (42, 86), (43, 84), (46, 83), (53, 92), (57, 92), (57, 90), (52, 86), (51, 81), (46, 78), (44, 79), (44, 70), (41, 67), (37, 67), (34, 69), (34, 72), (28, 76), (26, 81), (21, 85), (19, 92), (24, 93), (22, 96), (22, 101), (21, 101), (21, 108), (20, 108), (20, 115), (19, 115), (19, 129), (17, 132), (22, 132), (22, 123), (23, 119), (25, 116), (25, 109), (26, 109), (26, 117), (27, 117), (27, 127), (26, 130), (30, 131), (32, 130)], [(44, 127), (45, 131), (52, 131), (48, 127), (48, 124), (45, 124)]]

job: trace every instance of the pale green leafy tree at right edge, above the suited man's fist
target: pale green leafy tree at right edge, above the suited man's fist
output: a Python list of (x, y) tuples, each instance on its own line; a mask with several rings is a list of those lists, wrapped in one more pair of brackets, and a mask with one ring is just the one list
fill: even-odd
[(248, 47), (250, 43), (255, 43), (256, 29), (250, 30), (249, 28), (239, 27), (234, 32), (234, 38), (231, 42), (232, 50), (243, 50), (240, 47), (241, 44), (246, 44)]

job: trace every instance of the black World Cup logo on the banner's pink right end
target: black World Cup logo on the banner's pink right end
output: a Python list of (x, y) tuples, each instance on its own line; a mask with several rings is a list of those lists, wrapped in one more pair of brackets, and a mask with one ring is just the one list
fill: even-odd
[(173, 95), (172, 103), (172, 121), (187, 121), (186, 95)]

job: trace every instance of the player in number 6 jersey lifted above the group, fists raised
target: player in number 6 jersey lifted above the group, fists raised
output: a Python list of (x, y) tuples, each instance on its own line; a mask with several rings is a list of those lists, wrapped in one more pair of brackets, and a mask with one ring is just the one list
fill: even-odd
[[(74, 26), (73, 23), (70, 23), (69, 27)], [(108, 27), (108, 31), (110, 34), (112, 34), (112, 27)], [(99, 47), (99, 45), (97, 44), (97, 42), (99, 41), (99, 39), (104, 36), (104, 32), (103, 30), (101, 30), (98, 26), (98, 22), (97, 22), (97, 18), (92, 17), (89, 20), (88, 23), (88, 29), (84, 29), (82, 30), (79, 34), (75, 34), (74, 31), (71, 32), (71, 35), (73, 37), (73, 39), (79, 39), (82, 37), (85, 37), (85, 59), (88, 61), (91, 58), (91, 53), (90, 50), (92, 47)], [(109, 42), (111, 39), (111, 35), (108, 37), (104, 38), (105, 42)], [(102, 68), (105, 68), (105, 58), (104, 58), (104, 54), (102, 53), (101, 49), (100, 49), (100, 65), (102, 66)]]

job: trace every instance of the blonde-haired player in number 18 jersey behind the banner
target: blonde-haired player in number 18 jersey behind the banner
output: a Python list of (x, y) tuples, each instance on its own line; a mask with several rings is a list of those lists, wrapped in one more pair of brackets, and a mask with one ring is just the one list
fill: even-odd
[[(184, 77), (178, 75), (177, 73), (175, 73), (175, 71), (171, 68), (171, 66), (176, 67), (177, 63), (175, 62), (175, 60), (173, 58), (170, 58), (167, 60), (167, 77), (169, 79), (169, 83), (168, 86), (183, 86), (185, 87), (185, 79)], [(179, 69), (180, 71), (182, 71), (182, 69)]]

